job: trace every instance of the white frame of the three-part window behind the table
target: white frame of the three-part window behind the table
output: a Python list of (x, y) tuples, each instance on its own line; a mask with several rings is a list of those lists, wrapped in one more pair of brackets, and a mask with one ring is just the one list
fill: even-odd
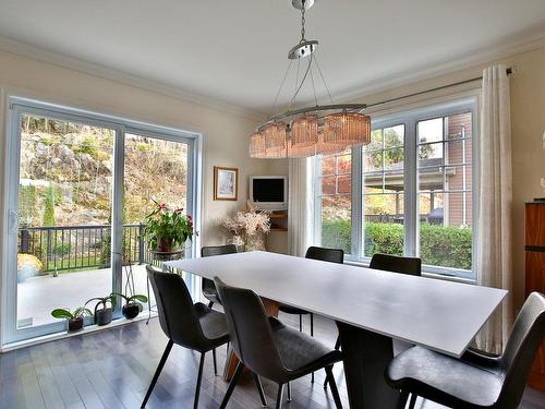
[[(417, 123), (435, 119), (456, 116), (460, 113), (471, 112), (472, 123), (472, 269), (459, 269), (452, 267), (433, 266), (423, 264), (423, 274), (431, 276), (440, 276), (445, 278), (460, 278), (463, 280), (474, 281), (475, 276), (475, 249), (476, 249), (476, 209), (477, 209), (477, 143), (479, 137), (479, 121), (477, 121), (479, 98), (476, 95), (460, 96), (458, 98), (444, 99), (436, 104), (426, 104), (417, 108), (402, 107), (396, 112), (372, 117), (372, 131), (378, 129), (390, 128), (395, 125), (404, 125), (403, 140), (403, 172), (404, 172), (404, 189), (403, 189), (403, 207), (404, 207), (404, 242), (403, 254), (405, 256), (416, 256), (420, 245), (420, 217), (419, 217), (419, 141)], [(352, 251), (346, 255), (346, 261), (353, 264), (368, 264), (371, 257), (363, 255), (364, 240), (364, 212), (363, 212), (363, 153), (361, 147), (352, 147), (352, 205), (351, 205), (351, 238)], [(320, 160), (316, 160), (314, 192), (315, 192), (315, 236), (314, 242), (319, 245), (322, 242), (322, 185), (319, 183), (322, 169)]]

